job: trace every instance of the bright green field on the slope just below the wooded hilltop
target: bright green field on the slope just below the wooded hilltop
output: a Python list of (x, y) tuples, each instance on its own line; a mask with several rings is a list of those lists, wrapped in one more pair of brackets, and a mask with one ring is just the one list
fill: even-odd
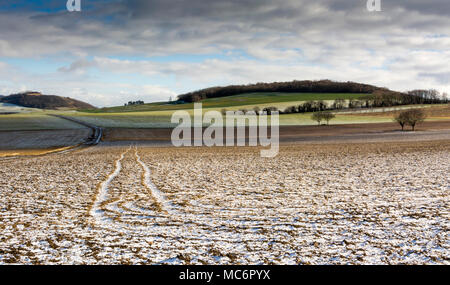
[[(241, 95), (210, 98), (202, 100), (203, 108), (249, 108), (253, 106), (275, 106), (282, 104), (285, 107), (298, 105), (304, 101), (324, 100), (330, 101), (341, 99), (358, 99), (367, 94), (351, 93), (247, 93)], [(274, 105), (275, 104), (275, 105)], [(145, 111), (169, 111), (192, 109), (194, 104), (169, 104), (168, 102), (157, 102), (143, 105), (118, 106), (101, 108), (96, 110), (85, 110), (88, 113), (120, 113), (120, 112), (145, 112)], [(281, 109), (281, 108), (280, 108)], [(231, 109), (230, 109), (231, 110)]]

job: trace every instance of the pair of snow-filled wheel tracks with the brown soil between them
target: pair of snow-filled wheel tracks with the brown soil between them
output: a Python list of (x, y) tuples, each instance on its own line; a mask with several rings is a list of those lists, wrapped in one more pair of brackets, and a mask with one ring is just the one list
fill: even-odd
[[(185, 235), (184, 224), (187, 223), (197, 227), (197, 233), (191, 236), (193, 240), (201, 240), (201, 237), (196, 235), (203, 235), (201, 232), (212, 230), (208, 226), (211, 217), (199, 216), (195, 212), (174, 207), (151, 181), (150, 175), (150, 168), (141, 160), (137, 147), (134, 147), (134, 155), (131, 146), (122, 152), (114, 162), (113, 172), (100, 183), (98, 193), (94, 197), (93, 206), (89, 211), (89, 215), (94, 218), (93, 226), (112, 232), (145, 231), (154, 232), (154, 235), (164, 235), (164, 231), (161, 232), (160, 228), (154, 231), (156, 222), (172, 228), (171, 231)], [(177, 215), (183, 217), (180, 219)], [(219, 224), (224, 226), (226, 222)], [(219, 235), (212, 238), (212, 241), (229, 242), (233, 234), (228, 232), (227, 235), (227, 239)], [(165, 235), (165, 238), (175, 237)], [(231, 241), (240, 242), (242, 239), (234, 237)]]

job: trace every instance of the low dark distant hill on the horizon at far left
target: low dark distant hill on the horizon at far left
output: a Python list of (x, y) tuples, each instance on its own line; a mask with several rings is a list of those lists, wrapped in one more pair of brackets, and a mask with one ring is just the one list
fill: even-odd
[(43, 95), (40, 92), (27, 91), (0, 97), (1, 103), (10, 103), (38, 109), (95, 109), (83, 101), (56, 95)]

